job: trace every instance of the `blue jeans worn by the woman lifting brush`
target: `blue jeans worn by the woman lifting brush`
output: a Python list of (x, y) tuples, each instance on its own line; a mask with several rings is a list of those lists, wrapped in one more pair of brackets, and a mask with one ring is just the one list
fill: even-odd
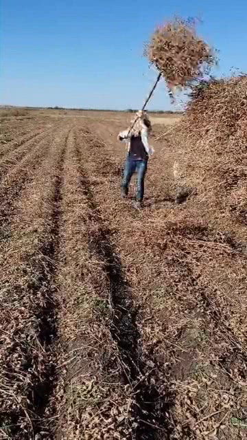
[(148, 160), (134, 160), (127, 157), (124, 168), (124, 178), (121, 184), (124, 195), (128, 195), (128, 186), (134, 172), (137, 172), (137, 201), (143, 200), (144, 195), (144, 179), (148, 168)]

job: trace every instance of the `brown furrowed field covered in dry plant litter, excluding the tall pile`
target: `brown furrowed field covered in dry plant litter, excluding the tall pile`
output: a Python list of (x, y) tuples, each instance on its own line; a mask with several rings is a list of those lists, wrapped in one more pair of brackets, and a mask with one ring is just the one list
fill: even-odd
[(174, 203), (162, 117), (134, 210), (129, 115), (50, 113), (1, 126), (0, 439), (246, 439), (246, 243)]

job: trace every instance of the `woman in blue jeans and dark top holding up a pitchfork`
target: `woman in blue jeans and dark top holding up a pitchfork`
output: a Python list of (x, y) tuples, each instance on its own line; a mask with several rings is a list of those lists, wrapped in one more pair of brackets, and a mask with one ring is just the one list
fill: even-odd
[[(135, 122), (134, 122), (135, 121)], [(152, 130), (151, 122), (145, 111), (138, 111), (131, 121), (131, 129), (121, 131), (118, 139), (128, 144), (128, 156), (124, 168), (124, 178), (121, 183), (122, 197), (128, 196), (128, 186), (134, 172), (137, 172), (137, 208), (141, 208), (144, 196), (144, 179), (148, 168), (148, 157), (154, 153), (148, 144), (148, 133)]]

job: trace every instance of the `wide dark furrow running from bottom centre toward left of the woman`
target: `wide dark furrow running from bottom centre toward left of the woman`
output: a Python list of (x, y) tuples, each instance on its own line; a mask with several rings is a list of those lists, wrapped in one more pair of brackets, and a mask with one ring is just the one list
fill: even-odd
[(136, 427), (131, 438), (136, 440), (169, 439), (173, 431), (169, 422), (172, 394), (168, 389), (165, 391), (166, 397), (160, 394), (154, 385), (152, 369), (147, 368), (143, 362), (141, 335), (136, 323), (137, 308), (131, 298), (131, 289), (126, 281), (120, 256), (113, 245), (110, 229), (103, 221), (99, 207), (95, 203), (93, 185), (86, 172), (86, 166), (89, 163), (86, 161), (85, 164), (85, 157), (88, 159), (90, 156), (83, 155), (83, 153), (86, 151), (88, 142), (89, 133), (80, 139), (80, 145), (77, 143), (77, 155), (82, 189), (92, 213), (89, 221), (95, 221), (98, 225), (97, 233), (93, 237), (89, 236), (89, 249), (97, 254), (104, 265), (104, 272), (109, 282), (110, 305), (113, 310), (110, 331), (119, 348), (124, 381), (134, 389), (132, 425)]

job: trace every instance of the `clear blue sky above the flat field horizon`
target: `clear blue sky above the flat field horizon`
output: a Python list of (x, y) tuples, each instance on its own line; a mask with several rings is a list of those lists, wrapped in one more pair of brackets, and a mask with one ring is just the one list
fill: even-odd
[[(217, 74), (247, 71), (246, 0), (0, 1), (1, 104), (141, 107), (155, 78), (143, 42), (174, 14), (204, 21)], [(172, 108), (164, 83), (149, 108)]]

